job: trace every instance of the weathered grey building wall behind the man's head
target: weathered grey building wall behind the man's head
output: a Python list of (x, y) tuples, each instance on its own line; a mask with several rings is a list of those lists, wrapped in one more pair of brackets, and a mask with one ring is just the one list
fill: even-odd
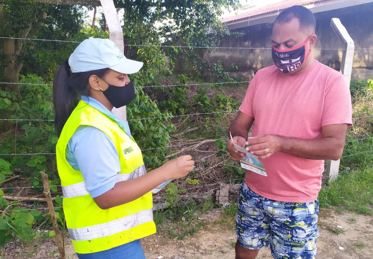
[[(344, 44), (330, 26), (333, 17), (339, 18), (355, 42), (352, 78), (373, 78), (373, 3), (346, 7), (327, 12), (316, 13), (316, 35), (314, 57), (336, 70), (341, 68), (342, 50)], [(204, 59), (210, 62), (221, 60), (225, 65), (234, 63), (237, 70), (230, 73), (250, 80), (260, 68), (273, 65), (271, 55), (271, 36), (273, 24), (264, 23), (236, 29), (244, 36), (229, 37), (222, 42), (220, 48), (212, 53), (204, 53)], [(240, 47), (242, 49), (240, 49)], [(268, 48), (268, 49), (244, 49)], [(372, 74), (365, 74), (372, 73)]]

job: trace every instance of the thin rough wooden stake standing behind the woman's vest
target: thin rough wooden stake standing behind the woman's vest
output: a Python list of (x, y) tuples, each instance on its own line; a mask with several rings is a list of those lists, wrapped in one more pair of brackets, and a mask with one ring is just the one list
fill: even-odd
[(41, 175), (41, 178), (43, 179), (43, 187), (44, 187), (43, 192), (47, 199), (50, 218), (52, 220), (54, 233), (56, 234), (56, 242), (58, 246), (58, 251), (60, 253), (60, 259), (66, 259), (65, 248), (63, 247), (63, 243), (62, 243), (61, 235), (60, 235), (60, 228), (58, 227), (58, 224), (57, 224), (56, 213), (54, 212), (53, 202), (50, 196), (48, 176), (42, 171), (40, 171), (40, 175)]

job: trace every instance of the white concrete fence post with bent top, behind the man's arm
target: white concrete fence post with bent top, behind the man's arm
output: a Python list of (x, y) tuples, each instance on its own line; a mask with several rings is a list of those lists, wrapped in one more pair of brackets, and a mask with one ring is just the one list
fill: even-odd
[[(355, 44), (350, 34), (348, 34), (345, 26), (342, 25), (341, 20), (332, 18), (330, 25), (333, 30), (341, 37), (346, 49), (343, 51), (341, 73), (345, 76), (348, 88), (350, 88), (350, 80), (352, 74), (352, 61), (354, 59)], [(340, 160), (328, 160), (326, 165), (326, 176), (329, 177), (329, 182), (334, 181), (338, 177)]]

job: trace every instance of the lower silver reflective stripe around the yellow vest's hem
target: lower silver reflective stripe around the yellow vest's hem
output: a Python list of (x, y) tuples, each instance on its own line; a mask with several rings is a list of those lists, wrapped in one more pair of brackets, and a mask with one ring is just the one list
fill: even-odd
[(84, 241), (106, 237), (152, 221), (152, 213), (153, 212), (151, 209), (140, 211), (136, 214), (118, 218), (117, 220), (113, 220), (107, 223), (75, 229), (68, 228), (68, 230), (71, 239), (75, 241)]

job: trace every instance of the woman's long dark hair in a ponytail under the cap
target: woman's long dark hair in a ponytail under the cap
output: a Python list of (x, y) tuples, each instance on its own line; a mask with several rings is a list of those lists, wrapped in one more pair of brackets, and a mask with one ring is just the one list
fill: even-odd
[(92, 75), (103, 77), (109, 71), (110, 68), (103, 68), (87, 72), (71, 73), (67, 60), (57, 68), (53, 80), (53, 104), (55, 115), (54, 125), (56, 126), (58, 137), (73, 109), (78, 105), (81, 96), (89, 96), (89, 77)]

